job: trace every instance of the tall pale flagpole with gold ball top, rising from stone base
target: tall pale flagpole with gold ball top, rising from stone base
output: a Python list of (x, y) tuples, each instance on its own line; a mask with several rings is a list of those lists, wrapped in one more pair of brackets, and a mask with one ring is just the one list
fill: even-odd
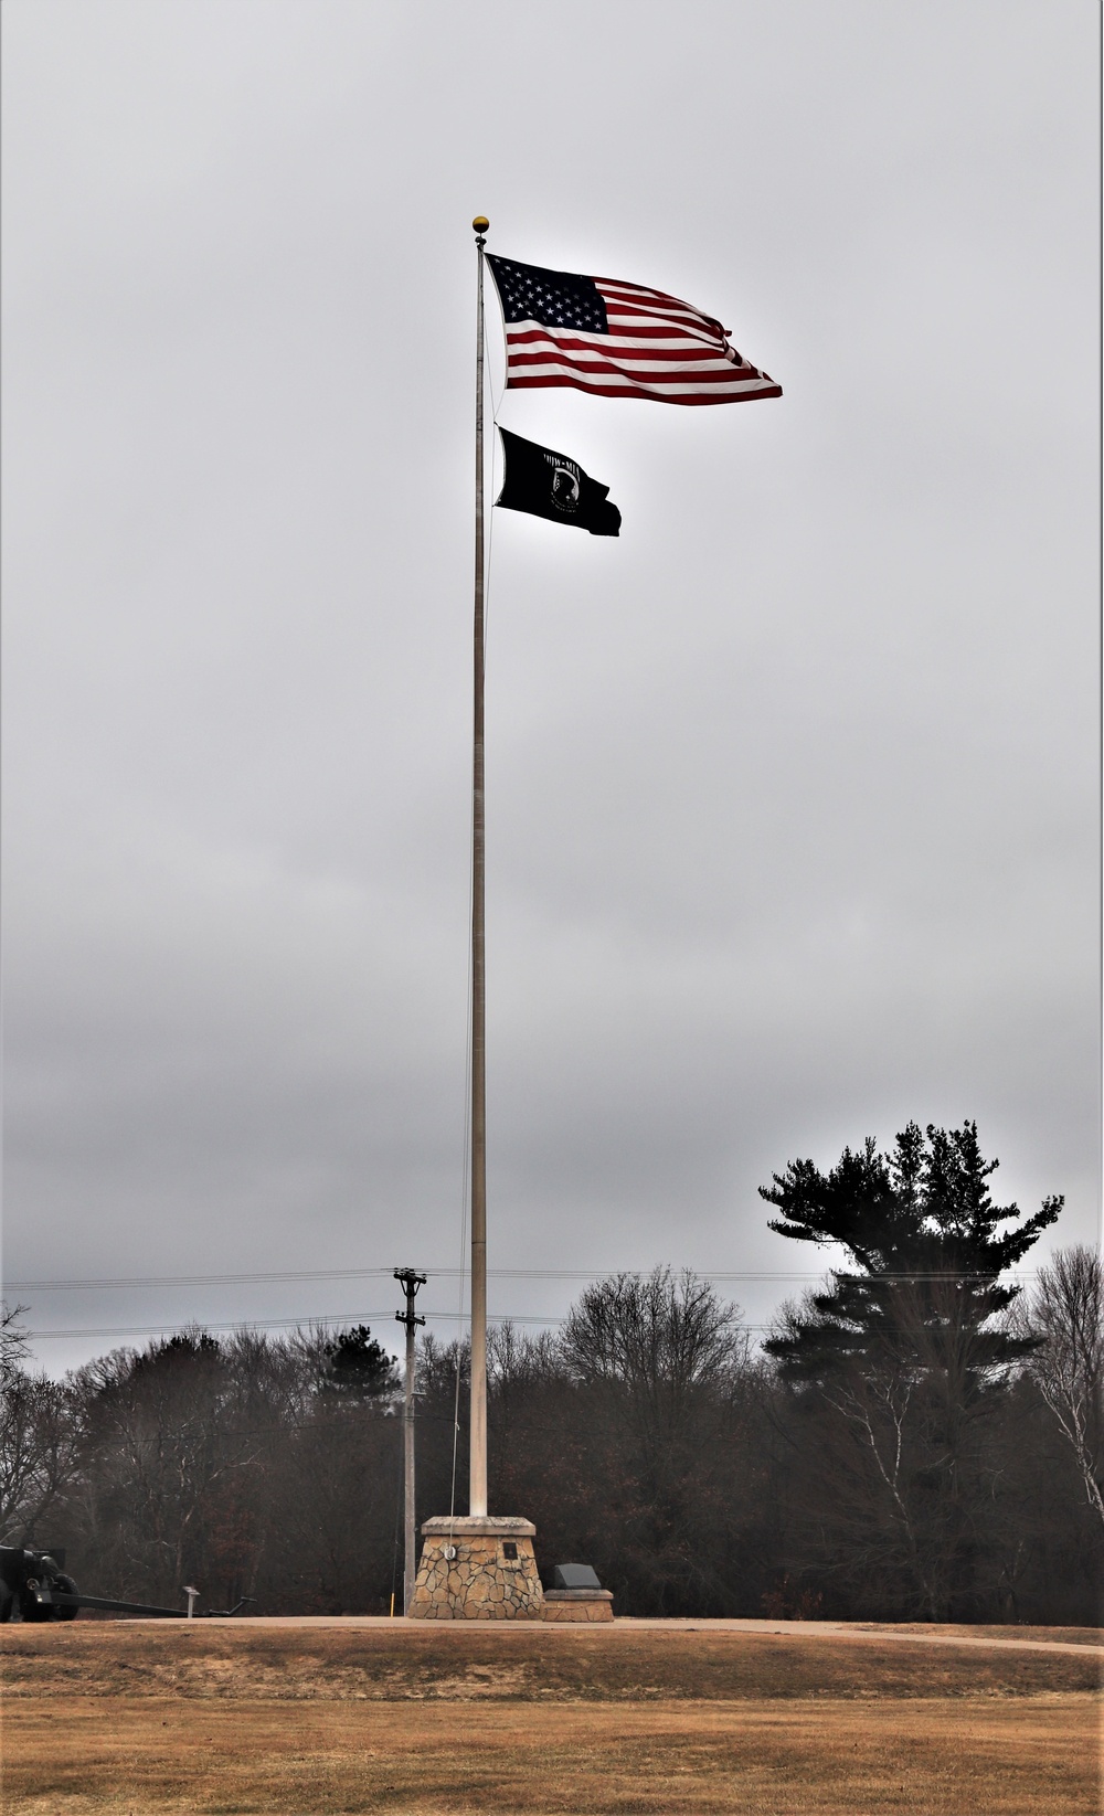
[(476, 616), (472, 714), (472, 1431), (468, 1515), (487, 1515), (487, 973), (483, 804), (483, 238), (476, 214)]

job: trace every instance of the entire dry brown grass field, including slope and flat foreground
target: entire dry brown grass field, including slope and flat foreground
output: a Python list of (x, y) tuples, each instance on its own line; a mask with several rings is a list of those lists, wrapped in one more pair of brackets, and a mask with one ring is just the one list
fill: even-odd
[(11, 1816), (1099, 1809), (1086, 1645), (76, 1622), (4, 1678)]

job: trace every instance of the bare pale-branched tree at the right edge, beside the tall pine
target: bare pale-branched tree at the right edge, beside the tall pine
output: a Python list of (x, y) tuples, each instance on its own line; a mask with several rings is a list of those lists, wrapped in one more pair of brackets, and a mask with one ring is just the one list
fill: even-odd
[(1013, 1308), (1017, 1333), (1039, 1347), (1026, 1371), (1077, 1458), (1089, 1507), (1104, 1524), (1104, 1266), (1084, 1244), (1059, 1249), (1030, 1302)]

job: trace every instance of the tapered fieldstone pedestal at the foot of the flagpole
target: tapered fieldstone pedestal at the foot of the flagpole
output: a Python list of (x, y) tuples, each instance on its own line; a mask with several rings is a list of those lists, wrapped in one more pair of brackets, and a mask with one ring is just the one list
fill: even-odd
[(530, 1520), (427, 1520), (410, 1618), (543, 1620), (534, 1533)]

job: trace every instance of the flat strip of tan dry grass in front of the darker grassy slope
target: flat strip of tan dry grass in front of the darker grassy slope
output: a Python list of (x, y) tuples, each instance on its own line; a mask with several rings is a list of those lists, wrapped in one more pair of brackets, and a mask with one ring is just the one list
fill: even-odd
[(1084, 1816), (1086, 1698), (534, 1703), (34, 1702), (7, 1718), (11, 1816), (692, 1812)]

